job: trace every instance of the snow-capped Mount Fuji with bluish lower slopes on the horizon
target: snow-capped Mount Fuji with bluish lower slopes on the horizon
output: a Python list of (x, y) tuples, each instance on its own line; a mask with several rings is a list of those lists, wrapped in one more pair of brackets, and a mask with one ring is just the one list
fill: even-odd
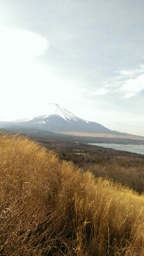
[(46, 104), (28, 115), (14, 113), (10, 116), (0, 117), (0, 128), (31, 128), (51, 132), (77, 131), (121, 134), (111, 131), (96, 122), (89, 122), (74, 115), (59, 104)]

